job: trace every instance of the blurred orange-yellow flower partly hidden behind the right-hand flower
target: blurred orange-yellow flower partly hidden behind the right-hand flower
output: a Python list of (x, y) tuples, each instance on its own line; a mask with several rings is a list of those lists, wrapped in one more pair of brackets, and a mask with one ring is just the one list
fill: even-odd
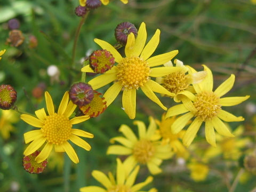
[(177, 154), (178, 157), (188, 157), (189, 153), (180, 141), (180, 139), (183, 138), (185, 131), (180, 131), (177, 134), (173, 134), (171, 131), (171, 126), (175, 121), (175, 116), (172, 118), (165, 118), (165, 114), (163, 114), (161, 122), (157, 119), (155, 121), (159, 127), (159, 130), (156, 130), (156, 139), (162, 138), (162, 145), (169, 144), (173, 152)]

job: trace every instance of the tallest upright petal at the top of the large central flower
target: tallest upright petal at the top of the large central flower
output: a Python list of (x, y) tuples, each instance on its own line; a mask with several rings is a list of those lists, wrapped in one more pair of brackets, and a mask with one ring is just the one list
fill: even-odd
[(134, 49), (132, 55), (139, 57), (147, 39), (147, 31), (145, 22), (142, 22), (138, 30), (138, 36), (135, 39)]

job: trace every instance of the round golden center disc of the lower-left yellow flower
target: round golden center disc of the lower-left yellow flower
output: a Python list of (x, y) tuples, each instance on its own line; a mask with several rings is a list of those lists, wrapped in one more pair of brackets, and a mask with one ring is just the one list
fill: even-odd
[(71, 127), (72, 125), (67, 117), (55, 113), (46, 117), (41, 130), (48, 142), (62, 145), (63, 142), (69, 140)]

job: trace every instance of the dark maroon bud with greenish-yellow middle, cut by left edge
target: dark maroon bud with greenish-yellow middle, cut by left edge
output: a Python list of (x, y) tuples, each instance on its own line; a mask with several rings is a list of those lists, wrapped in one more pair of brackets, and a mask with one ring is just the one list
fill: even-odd
[(11, 109), (17, 100), (17, 92), (11, 85), (0, 85), (0, 108)]

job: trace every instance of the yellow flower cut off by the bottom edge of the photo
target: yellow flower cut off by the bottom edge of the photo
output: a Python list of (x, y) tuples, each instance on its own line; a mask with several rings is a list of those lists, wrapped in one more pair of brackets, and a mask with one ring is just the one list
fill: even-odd
[[(140, 166), (138, 165), (133, 170), (133, 167), (128, 167), (129, 174), (125, 175), (125, 165), (120, 161), (119, 158), (116, 159), (116, 179), (111, 172), (108, 172), (108, 177), (101, 171), (94, 170), (92, 172), (92, 177), (99, 181), (105, 188), (98, 186), (89, 186), (80, 188), (81, 192), (139, 192), (140, 189), (148, 185), (148, 183), (153, 181), (153, 177), (149, 176), (144, 182), (134, 185), (135, 179), (137, 178)], [(146, 192), (146, 191), (145, 191)], [(155, 188), (150, 189), (148, 192), (157, 192)]]

